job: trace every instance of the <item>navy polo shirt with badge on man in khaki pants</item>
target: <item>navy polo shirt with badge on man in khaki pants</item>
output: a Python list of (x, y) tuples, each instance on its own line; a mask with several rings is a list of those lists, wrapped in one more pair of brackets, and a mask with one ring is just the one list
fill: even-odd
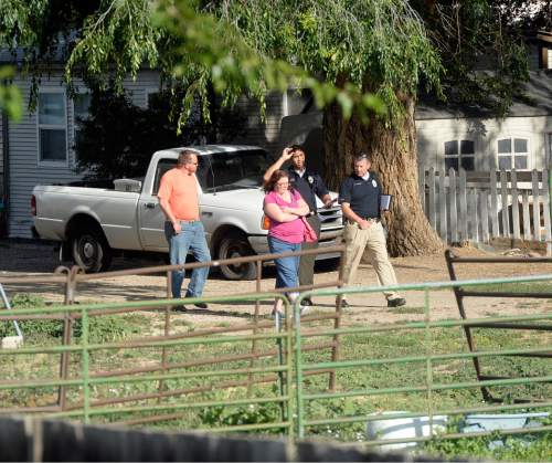
[(378, 175), (370, 172), (368, 180), (352, 173), (341, 183), (339, 202), (351, 204), (352, 211), (362, 219), (380, 217), (380, 197), (382, 188)]

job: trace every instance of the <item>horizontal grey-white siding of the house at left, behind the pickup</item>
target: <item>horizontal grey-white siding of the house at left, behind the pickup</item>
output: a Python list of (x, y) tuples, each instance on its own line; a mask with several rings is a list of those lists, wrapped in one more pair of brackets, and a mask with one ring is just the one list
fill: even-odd
[[(40, 88), (65, 88), (60, 84), (61, 74), (51, 78), (43, 77)], [(29, 83), (17, 80), (15, 84), (23, 93), (23, 105), (29, 103)], [(135, 104), (145, 106), (147, 90), (159, 86), (158, 74), (155, 72), (140, 73), (137, 82), (125, 82), (125, 87), (130, 91)], [(68, 162), (56, 162), (40, 166), (38, 161), (38, 126), (36, 114), (26, 112), (20, 123), (9, 123), (10, 137), (10, 223), (9, 235), (14, 238), (31, 238), (32, 218), (30, 201), (32, 189), (35, 185), (64, 183), (81, 178), (74, 172), (75, 154), (73, 146), (73, 103), (66, 98), (67, 117), (67, 148)]]

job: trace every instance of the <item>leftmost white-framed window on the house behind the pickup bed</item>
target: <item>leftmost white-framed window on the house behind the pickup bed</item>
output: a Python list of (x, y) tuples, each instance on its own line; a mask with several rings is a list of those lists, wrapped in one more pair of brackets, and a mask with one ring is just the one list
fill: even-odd
[(39, 161), (67, 161), (67, 118), (63, 92), (39, 93)]

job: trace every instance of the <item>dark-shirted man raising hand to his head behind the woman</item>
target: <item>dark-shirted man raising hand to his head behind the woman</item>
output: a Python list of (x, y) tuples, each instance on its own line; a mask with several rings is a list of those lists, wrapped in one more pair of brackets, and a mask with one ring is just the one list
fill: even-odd
[[(274, 171), (282, 168), (284, 162), (287, 160), (291, 161), (289, 166), (289, 182), (291, 188), (299, 191), (300, 196), (308, 204), (310, 213), (307, 217), (307, 221), (310, 227), (316, 231), (318, 238), (320, 238), (320, 219), (317, 213), (316, 197), (320, 198), (323, 204), (329, 208), (333, 203), (331, 200), (328, 188), (322, 180), (322, 178), (315, 172), (309, 170), (305, 165), (305, 150), (299, 145), (291, 145), (282, 151), (282, 156), (274, 162), (268, 170), (265, 172), (263, 180), (266, 182), (270, 178)], [(302, 243), (301, 250), (318, 248), (318, 241), (314, 243)], [(299, 285), (300, 286), (311, 286), (315, 282), (315, 259), (311, 255), (301, 255), (299, 262)], [(304, 298), (301, 305), (310, 306), (312, 301), (310, 298)]]

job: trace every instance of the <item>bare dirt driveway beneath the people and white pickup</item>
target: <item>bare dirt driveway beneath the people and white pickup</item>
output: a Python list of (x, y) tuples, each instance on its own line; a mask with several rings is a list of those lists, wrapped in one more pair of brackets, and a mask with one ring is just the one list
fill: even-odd
[[(466, 256), (495, 256), (498, 252), (485, 252), (474, 248), (455, 248), (457, 255)], [(445, 259), (443, 255), (400, 257), (393, 259), (399, 282), (427, 283), (449, 281)], [(21, 275), (47, 275), (59, 265), (57, 253), (51, 244), (40, 242), (22, 242), (15, 240), (0, 241), (0, 283), (6, 283), (4, 277)], [(115, 259), (112, 270), (130, 270), (145, 266), (161, 265), (162, 262), (147, 260), (123, 260)], [(552, 264), (459, 264), (457, 266), (459, 280), (507, 277), (533, 274), (552, 274)], [(337, 281), (337, 271), (323, 269), (320, 265), (315, 276), (316, 283), (331, 283)], [(274, 288), (275, 272), (273, 267), (263, 271), (262, 290)], [(188, 281), (188, 280), (187, 280)], [(376, 285), (376, 277), (371, 265), (361, 265), (354, 282), (357, 285)], [(185, 282), (184, 282), (185, 285)], [(100, 281), (79, 284), (77, 288), (77, 302), (124, 302), (157, 299), (166, 297), (167, 282), (161, 274), (112, 276)], [(55, 284), (4, 284), (9, 296), (15, 293), (38, 293), (46, 302), (62, 302), (63, 287)], [(231, 294), (244, 294), (255, 291), (255, 282), (230, 282), (214, 273), (210, 275), (205, 287), (205, 297), (226, 296)], [(343, 322), (351, 323), (394, 323), (404, 320), (416, 320), (423, 318), (424, 293), (410, 291), (403, 294), (407, 305), (401, 308), (388, 308), (385, 298), (381, 293), (353, 294), (348, 297), (351, 308), (347, 311)], [(311, 312), (328, 312), (335, 309), (333, 296), (318, 296), (314, 298), (316, 306)], [(272, 303), (262, 303), (263, 314), (268, 315)], [(466, 303), (470, 316), (490, 316), (495, 314), (523, 314), (541, 311), (552, 311), (552, 301), (523, 301), (522, 298), (470, 298)], [(431, 293), (432, 318), (457, 318), (458, 309), (450, 290), (435, 291)], [(209, 309), (192, 309), (180, 317), (190, 318), (194, 324), (213, 323), (240, 323), (253, 312), (253, 303), (226, 302), (212, 303)]]

